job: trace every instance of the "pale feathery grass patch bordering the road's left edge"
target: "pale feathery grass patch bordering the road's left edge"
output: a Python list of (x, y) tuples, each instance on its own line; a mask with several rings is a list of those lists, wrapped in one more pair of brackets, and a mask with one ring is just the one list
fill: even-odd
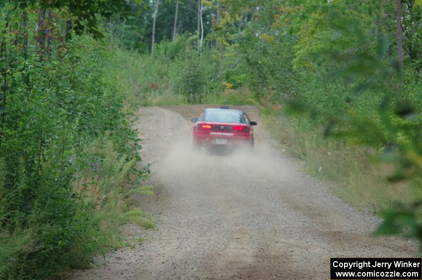
[[(118, 155), (113, 142), (107, 138), (99, 138), (90, 145), (86, 155), (101, 158), (101, 164), (79, 170), (73, 188), (95, 205), (89, 219), (99, 228), (88, 229), (91, 240), (81, 240), (80, 246), (73, 246), (75, 252), (72, 255), (77, 256), (75, 267), (79, 268), (95, 263), (97, 255), (105, 258), (106, 252), (113, 248), (133, 246), (124, 235), (125, 224), (136, 224), (145, 229), (155, 227), (148, 213), (134, 207), (134, 194), (153, 195), (153, 186), (139, 186), (138, 176), (134, 174), (136, 162), (125, 160), (126, 155)], [(80, 257), (81, 250), (88, 259)]]

